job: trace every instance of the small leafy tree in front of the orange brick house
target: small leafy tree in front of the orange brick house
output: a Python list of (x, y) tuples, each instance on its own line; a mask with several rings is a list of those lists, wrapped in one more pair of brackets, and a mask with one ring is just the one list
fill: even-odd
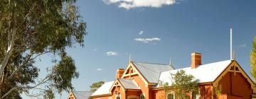
[(172, 91), (179, 98), (188, 98), (187, 93), (198, 94), (199, 92), (198, 79), (195, 80), (194, 76), (186, 74), (183, 70), (177, 71), (176, 74), (171, 74), (171, 81), (171, 86), (168, 86), (168, 83), (159, 83), (166, 93)]

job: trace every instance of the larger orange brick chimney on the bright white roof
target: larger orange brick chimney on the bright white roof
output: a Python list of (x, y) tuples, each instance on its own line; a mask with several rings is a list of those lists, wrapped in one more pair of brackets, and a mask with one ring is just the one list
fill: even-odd
[(199, 65), (201, 65), (201, 57), (202, 54), (201, 53), (197, 53), (197, 52), (193, 52), (191, 54), (191, 68), (194, 69), (196, 67), (198, 67)]

